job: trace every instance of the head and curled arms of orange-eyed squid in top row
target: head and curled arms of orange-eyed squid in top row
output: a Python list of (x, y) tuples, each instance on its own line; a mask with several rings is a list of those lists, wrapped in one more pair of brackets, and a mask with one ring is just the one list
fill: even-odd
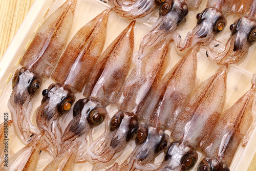
[(184, 41), (177, 32), (174, 34), (176, 50), (179, 53), (186, 52), (196, 45), (209, 45), (214, 36), (222, 31), (227, 23), (223, 13), (217, 8), (206, 8), (202, 13), (197, 14), (197, 19), (197, 26), (186, 35)]

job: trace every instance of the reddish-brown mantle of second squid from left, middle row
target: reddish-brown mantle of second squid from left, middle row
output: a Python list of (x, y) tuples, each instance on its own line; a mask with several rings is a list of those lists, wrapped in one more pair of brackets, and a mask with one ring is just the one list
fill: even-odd
[(103, 49), (109, 12), (101, 12), (72, 38), (51, 76), (56, 82), (82, 91)]

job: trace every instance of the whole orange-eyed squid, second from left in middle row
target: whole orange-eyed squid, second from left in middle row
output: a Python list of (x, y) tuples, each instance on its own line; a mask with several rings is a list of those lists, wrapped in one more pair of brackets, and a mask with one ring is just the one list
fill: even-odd
[(74, 91), (82, 90), (101, 54), (109, 12), (103, 11), (76, 33), (53, 72), (52, 78), (59, 83), (42, 92), (44, 97), (36, 113), (37, 126), (46, 130), (57, 147), (55, 153), (59, 152), (62, 135), (57, 119), (70, 110), (75, 102)]

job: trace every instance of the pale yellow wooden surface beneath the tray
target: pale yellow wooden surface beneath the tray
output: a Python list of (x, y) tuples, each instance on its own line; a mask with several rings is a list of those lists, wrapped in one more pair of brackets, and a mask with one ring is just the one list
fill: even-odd
[[(34, 1), (0, 0), (0, 59), (3, 57)], [(248, 171), (254, 170), (256, 170), (256, 155), (254, 155)]]

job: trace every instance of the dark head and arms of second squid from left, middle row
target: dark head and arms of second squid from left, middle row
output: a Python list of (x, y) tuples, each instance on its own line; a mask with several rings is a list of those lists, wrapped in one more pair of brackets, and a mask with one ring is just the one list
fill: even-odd
[(40, 131), (46, 131), (47, 137), (54, 144), (55, 154), (59, 152), (62, 135), (57, 119), (68, 112), (63, 108), (66, 102), (70, 102), (71, 105), (75, 102), (75, 96), (70, 88), (60, 83), (51, 84), (36, 112), (37, 126)]

